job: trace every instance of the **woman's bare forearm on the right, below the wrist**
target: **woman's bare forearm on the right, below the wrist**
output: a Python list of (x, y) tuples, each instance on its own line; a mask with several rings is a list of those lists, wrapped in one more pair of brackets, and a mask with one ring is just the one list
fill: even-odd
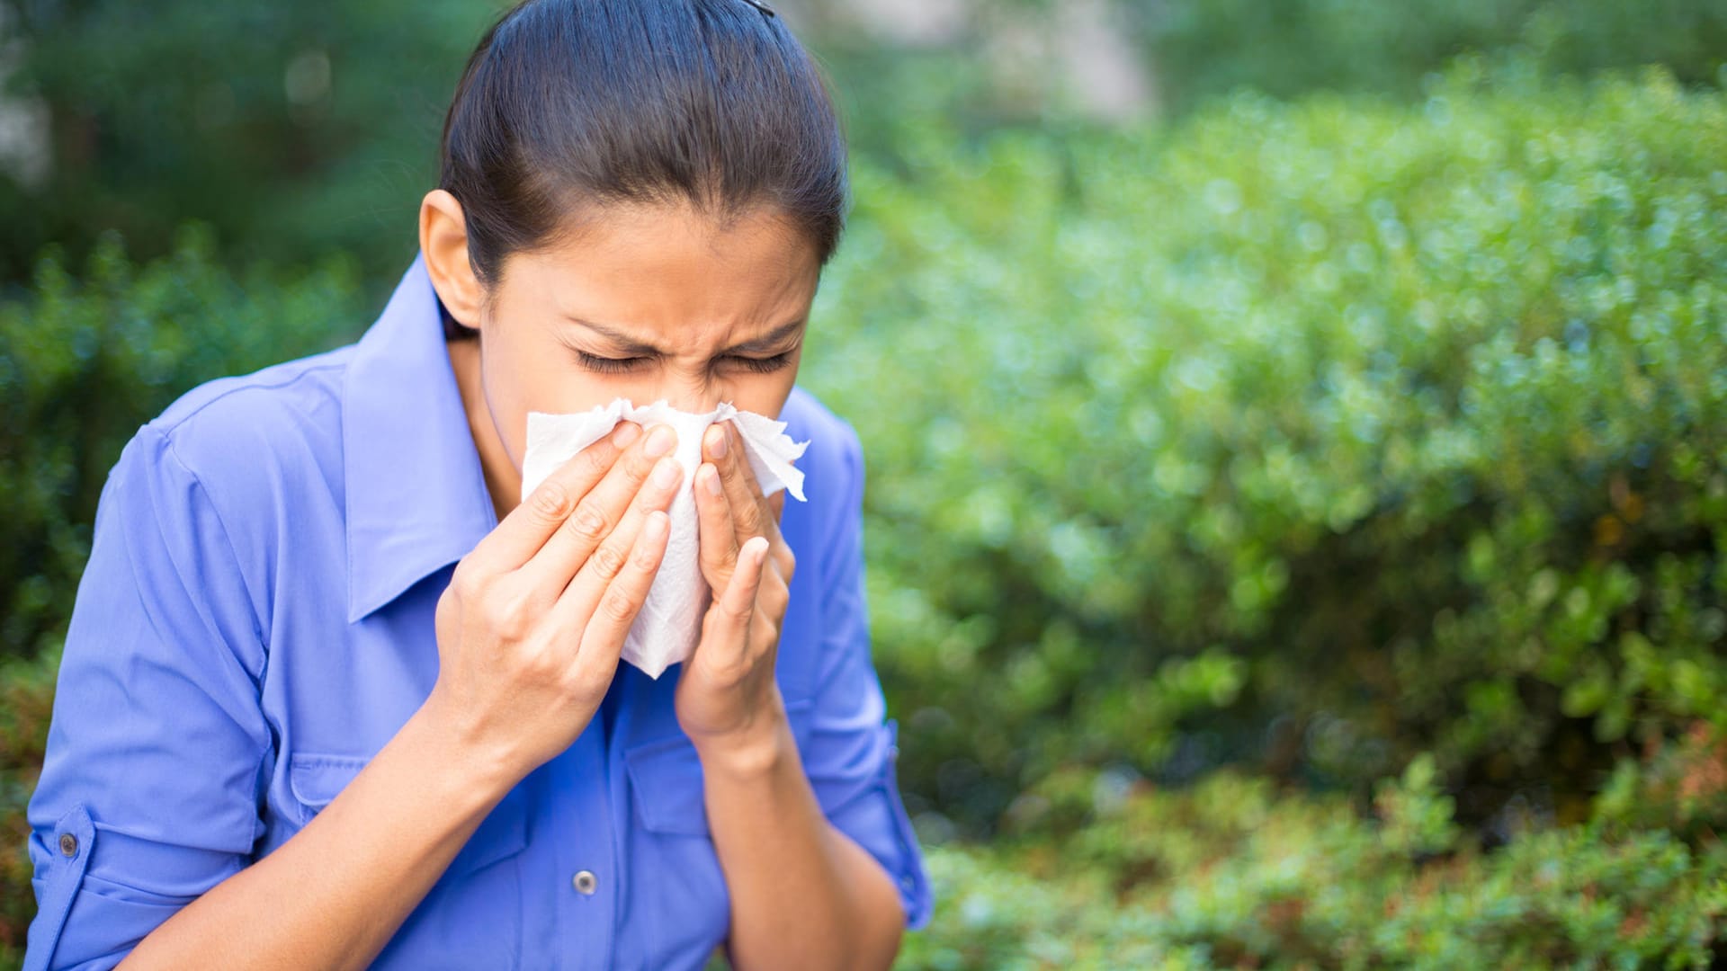
[(784, 710), (760, 741), (701, 752), (701, 771), (732, 898), (732, 966), (891, 966), (905, 933), (900, 892), (876, 857), (822, 814)]

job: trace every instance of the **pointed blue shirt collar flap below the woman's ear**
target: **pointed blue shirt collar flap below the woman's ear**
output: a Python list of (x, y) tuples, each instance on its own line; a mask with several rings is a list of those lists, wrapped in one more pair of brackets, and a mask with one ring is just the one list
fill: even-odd
[(342, 403), (352, 624), (497, 525), (425, 254), (356, 344)]

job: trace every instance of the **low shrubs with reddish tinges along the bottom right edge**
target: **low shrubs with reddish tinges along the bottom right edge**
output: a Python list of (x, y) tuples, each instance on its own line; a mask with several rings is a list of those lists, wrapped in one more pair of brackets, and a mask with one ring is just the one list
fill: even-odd
[(1708, 968), (1727, 943), (1718, 841), (1572, 826), (1428, 857), (1394, 829), (1230, 772), (1136, 791), (1062, 840), (933, 850), (896, 968)]

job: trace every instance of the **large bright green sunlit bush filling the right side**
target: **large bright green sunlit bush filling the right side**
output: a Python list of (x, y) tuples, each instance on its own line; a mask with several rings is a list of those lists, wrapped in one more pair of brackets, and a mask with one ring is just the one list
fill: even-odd
[(805, 382), (865, 442), (929, 805), (1432, 748), (1471, 821), (1578, 819), (1615, 745), (1727, 719), (1727, 98), (1464, 60), (914, 152), (860, 168)]

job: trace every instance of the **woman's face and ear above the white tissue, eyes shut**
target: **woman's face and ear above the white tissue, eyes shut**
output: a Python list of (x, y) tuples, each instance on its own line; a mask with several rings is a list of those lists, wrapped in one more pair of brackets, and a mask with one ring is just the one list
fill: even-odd
[[(477, 352), (452, 361), (461, 378), (463, 354), (478, 358), (466, 366), (478, 371), (497, 441), (477, 444), (482, 456), (501, 446), (516, 482), (528, 411), (627, 397), (684, 411), (727, 401), (777, 416), (820, 275), (815, 249), (770, 211), (722, 230), (682, 206), (615, 206), (566, 244), (511, 254), (484, 292), (459, 202), (442, 190), (421, 206), (421, 251), (451, 316), (480, 332)], [(465, 394), (475, 384), (466, 377)], [(489, 475), (506, 486), (504, 472)]]

